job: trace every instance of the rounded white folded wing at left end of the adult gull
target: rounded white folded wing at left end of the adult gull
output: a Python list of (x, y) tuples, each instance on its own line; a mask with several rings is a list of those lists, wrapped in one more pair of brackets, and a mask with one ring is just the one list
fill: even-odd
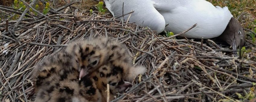
[[(152, 30), (161, 33), (165, 29), (164, 17), (155, 9), (155, 1), (151, 0), (104, 0), (107, 9), (113, 16), (122, 16), (125, 13), (129, 13), (132, 10), (130, 22), (136, 22), (136, 24), (149, 27)], [(124, 4), (124, 5), (123, 5)], [(127, 20), (128, 15), (124, 16), (124, 20)], [(123, 17), (121, 17), (123, 18)]]

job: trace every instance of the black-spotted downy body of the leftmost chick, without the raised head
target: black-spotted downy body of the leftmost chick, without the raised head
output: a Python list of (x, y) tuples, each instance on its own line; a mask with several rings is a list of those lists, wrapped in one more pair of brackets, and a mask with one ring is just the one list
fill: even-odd
[(94, 80), (78, 80), (78, 64), (65, 51), (41, 61), (33, 70), (36, 102), (101, 102)]

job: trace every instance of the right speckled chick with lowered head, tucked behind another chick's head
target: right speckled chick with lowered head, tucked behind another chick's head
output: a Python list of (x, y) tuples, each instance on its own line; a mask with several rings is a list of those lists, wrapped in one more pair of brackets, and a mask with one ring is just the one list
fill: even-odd
[(94, 71), (90, 77), (96, 82), (96, 86), (103, 96), (103, 101), (106, 101), (107, 84), (110, 85), (110, 100), (113, 100), (117, 93), (122, 93), (126, 88), (131, 87), (130, 82), (133, 78), (145, 73), (146, 68), (133, 66), (132, 58), (124, 44), (105, 38), (101, 41), (107, 49), (107, 62), (97, 71)]

